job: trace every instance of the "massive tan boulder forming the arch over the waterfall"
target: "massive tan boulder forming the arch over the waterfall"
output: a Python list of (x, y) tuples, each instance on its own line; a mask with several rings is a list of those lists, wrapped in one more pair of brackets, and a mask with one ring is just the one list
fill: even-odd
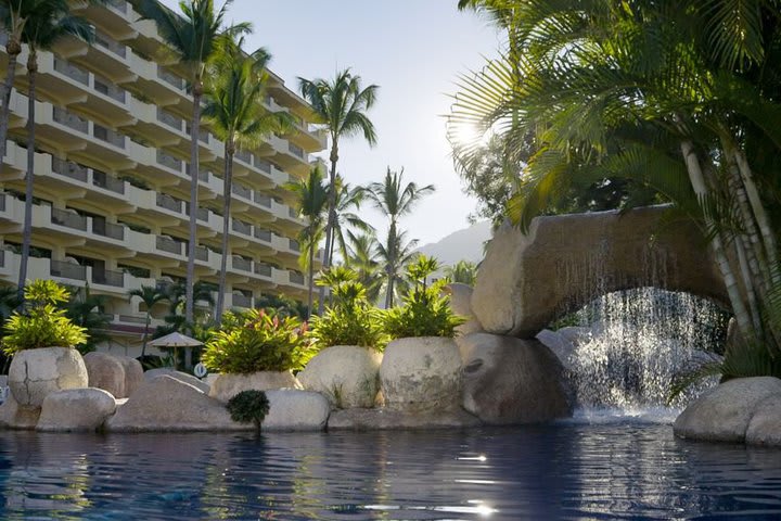
[[(472, 312), (488, 332), (532, 339), (612, 291), (655, 285), (727, 304), (702, 233), (693, 225), (662, 226), (665, 211), (537, 217), (527, 233), (504, 224), (481, 265)], [(654, 278), (660, 272), (665, 277)]]

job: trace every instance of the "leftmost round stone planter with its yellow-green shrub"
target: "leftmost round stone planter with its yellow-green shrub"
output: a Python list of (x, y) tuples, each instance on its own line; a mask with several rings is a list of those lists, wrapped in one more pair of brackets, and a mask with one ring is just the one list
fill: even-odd
[(40, 407), (54, 391), (88, 385), (87, 367), (75, 348), (87, 341), (86, 330), (57, 307), (68, 296), (56, 282), (36, 280), (25, 288), (24, 309), (5, 322), (2, 350), (13, 356), (9, 387), (20, 405)]

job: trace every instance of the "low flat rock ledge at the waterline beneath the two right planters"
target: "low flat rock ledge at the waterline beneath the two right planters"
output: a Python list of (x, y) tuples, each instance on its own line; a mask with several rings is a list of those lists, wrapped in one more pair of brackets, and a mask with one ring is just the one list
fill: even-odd
[(390, 429), (452, 429), (477, 427), (482, 421), (457, 409), (441, 414), (414, 414), (401, 410), (345, 409), (334, 410), (329, 417), (329, 430), (345, 429), (354, 431), (373, 431)]

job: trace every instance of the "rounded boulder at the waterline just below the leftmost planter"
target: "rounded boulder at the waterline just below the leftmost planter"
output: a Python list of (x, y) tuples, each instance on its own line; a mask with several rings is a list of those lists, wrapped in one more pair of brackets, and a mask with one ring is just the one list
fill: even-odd
[(116, 410), (116, 401), (97, 387), (50, 393), (41, 406), (36, 430), (43, 432), (95, 431)]

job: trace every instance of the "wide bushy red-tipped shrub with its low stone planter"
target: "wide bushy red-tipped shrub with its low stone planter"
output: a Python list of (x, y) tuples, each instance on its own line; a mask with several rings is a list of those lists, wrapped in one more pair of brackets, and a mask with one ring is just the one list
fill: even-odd
[(210, 396), (225, 403), (251, 389), (299, 389), (293, 370), (302, 369), (312, 355), (306, 330), (298, 318), (280, 318), (264, 309), (230, 314), (201, 356), (210, 371), (219, 373)]

